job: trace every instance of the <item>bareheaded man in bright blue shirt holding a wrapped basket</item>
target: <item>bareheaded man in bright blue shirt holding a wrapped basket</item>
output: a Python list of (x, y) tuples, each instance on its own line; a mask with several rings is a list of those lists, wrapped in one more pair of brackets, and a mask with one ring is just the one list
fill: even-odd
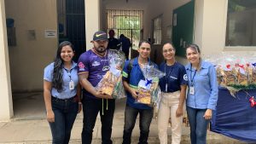
[(136, 123), (137, 114), (140, 115), (140, 138), (138, 143), (148, 143), (149, 127), (153, 118), (152, 107), (136, 102), (138, 96), (137, 85), (141, 79), (145, 79), (142, 72), (143, 66), (151, 65), (155, 68), (157, 66), (149, 60), (151, 44), (148, 41), (141, 41), (137, 51), (139, 53), (138, 57), (127, 60), (123, 71), (123, 84), (127, 93), (123, 144), (131, 144), (131, 133)]

